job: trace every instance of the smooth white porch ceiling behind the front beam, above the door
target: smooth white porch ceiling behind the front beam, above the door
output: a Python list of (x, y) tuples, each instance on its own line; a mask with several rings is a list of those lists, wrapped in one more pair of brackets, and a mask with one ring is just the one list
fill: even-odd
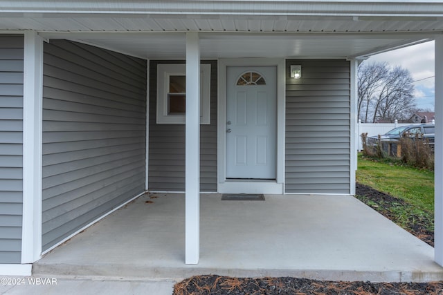
[[(42, 33), (47, 39), (71, 39), (145, 59), (184, 59), (184, 33)], [(353, 58), (415, 44), (422, 35), (291, 35), (201, 33), (202, 59), (235, 57)]]

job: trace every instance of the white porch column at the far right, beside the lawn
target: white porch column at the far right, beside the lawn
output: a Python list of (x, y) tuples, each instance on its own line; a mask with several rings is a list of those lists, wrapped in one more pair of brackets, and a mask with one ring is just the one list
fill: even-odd
[(435, 262), (443, 266), (443, 36), (435, 36)]

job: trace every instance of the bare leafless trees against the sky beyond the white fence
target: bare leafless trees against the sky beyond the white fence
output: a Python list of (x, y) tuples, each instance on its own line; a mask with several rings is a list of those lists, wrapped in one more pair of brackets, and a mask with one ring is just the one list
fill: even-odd
[(405, 119), (415, 108), (413, 92), (413, 79), (404, 68), (386, 62), (359, 66), (358, 115), (364, 122)]

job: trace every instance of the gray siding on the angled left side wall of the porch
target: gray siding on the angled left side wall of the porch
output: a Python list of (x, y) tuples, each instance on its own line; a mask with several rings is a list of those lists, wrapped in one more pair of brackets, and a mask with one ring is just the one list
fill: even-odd
[(146, 61), (44, 44), (42, 249), (145, 189)]

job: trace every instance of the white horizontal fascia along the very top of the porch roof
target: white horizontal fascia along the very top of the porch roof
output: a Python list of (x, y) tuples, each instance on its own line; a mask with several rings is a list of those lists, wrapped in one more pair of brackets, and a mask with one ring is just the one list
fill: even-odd
[[(399, 5), (401, 3), (401, 5)], [(442, 17), (435, 1), (0, 1), (0, 12), (17, 14), (318, 15), (351, 17)]]

